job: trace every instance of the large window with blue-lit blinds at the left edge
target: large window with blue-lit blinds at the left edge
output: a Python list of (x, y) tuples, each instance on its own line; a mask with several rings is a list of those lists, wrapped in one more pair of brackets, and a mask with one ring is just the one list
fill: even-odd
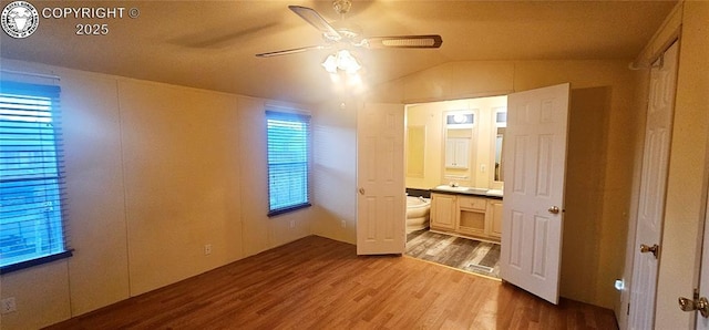
[(59, 92), (0, 82), (0, 272), (71, 256)]

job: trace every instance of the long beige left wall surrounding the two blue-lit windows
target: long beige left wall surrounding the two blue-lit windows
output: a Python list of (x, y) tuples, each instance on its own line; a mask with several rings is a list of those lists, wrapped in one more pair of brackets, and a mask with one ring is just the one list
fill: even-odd
[(51, 324), (310, 234), (311, 209), (266, 216), (264, 110), (284, 104), (18, 61), (2, 68), (61, 78), (75, 249), (0, 278), (0, 296), (18, 307), (3, 329)]

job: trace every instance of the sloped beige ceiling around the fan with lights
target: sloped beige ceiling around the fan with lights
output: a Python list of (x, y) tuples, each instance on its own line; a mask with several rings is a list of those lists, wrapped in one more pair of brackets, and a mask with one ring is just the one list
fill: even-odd
[[(31, 1), (44, 8), (123, 7), (122, 19), (40, 19), (27, 39), (2, 34), (2, 58), (41, 62), (243, 95), (317, 103), (337, 90), (318, 50), (260, 59), (256, 53), (322, 44), (288, 10), (331, 1)], [(354, 1), (346, 20), (364, 35), (441, 34), (438, 50), (362, 50), (369, 86), (451, 61), (630, 61), (676, 1)], [(136, 8), (140, 16), (129, 18)], [(76, 35), (105, 23), (107, 35)]]

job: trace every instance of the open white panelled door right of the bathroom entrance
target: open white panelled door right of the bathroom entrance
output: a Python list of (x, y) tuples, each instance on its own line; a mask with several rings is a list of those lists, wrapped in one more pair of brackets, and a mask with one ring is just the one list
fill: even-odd
[(502, 279), (558, 303), (569, 84), (507, 95)]

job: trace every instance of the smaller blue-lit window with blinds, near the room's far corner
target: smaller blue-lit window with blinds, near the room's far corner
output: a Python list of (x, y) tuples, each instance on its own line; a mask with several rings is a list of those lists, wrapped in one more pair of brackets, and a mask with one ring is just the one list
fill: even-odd
[(266, 112), (268, 216), (310, 206), (310, 116)]

